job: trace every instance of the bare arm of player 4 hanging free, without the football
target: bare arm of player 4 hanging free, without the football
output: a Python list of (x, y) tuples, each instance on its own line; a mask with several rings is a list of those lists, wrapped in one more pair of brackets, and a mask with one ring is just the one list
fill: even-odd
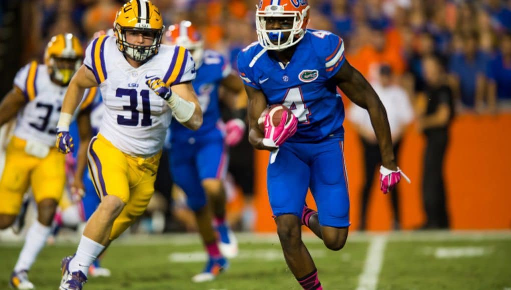
[(398, 170), (392, 151), (387, 112), (373, 87), (347, 60), (344, 61), (333, 79), (350, 100), (369, 112), (371, 124), (380, 146), (382, 165), (392, 171)]

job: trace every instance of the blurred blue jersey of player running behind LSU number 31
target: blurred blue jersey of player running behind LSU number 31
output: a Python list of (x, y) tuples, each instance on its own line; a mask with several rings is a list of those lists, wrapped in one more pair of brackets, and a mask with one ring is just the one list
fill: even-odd
[(206, 50), (202, 65), (197, 69), (197, 77), (192, 81), (193, 88), (199, 99), (202, 109), (202, 126), (197, 131), (192, 131), (176, 120), (170, 124), (170, 141), (187, 141), (190, 138), (221, 137), (217, 128), (220, 119), (218, 104), (218, 88), (220, 82), (230, 74), (231, 67), (225, 58), (215, 52)]

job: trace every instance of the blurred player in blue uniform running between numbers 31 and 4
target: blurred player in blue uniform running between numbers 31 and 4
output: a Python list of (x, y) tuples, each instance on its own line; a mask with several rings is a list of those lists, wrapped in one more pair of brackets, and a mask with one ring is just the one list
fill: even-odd
[[(192, 85), (203, 112), (203, 125), (199, 130), (192, 131), (178, 122), (172, 122), (169, 156), (173, 179), (187, 194), (188, 206), (195, 214), (209, 255), (204, 271), (193, 277), (193, 281), (210, 281), (218, 274), (217, 268), (226, 267), (227, 262), (220, 253), (227, 258), (235, 257), (238, 253), (236, 237), (225, 222), (223, 181), (228, 165), (226, 145), (237, 144), (245, 131), (242, 112), (238, 113), (239, 118), (223, 124), (218, 90), (222, 86), (234, 93), (241, 93), (243, 83), (236, 75), (230, 74), (231, 67), (220, 53), (203, 49), (203, 40), (190, 21), (170, 26), (166, 40), (169, 44), (189, 50), (196, 64), (197, 77)], [(219, 247), (216, 246), (217, 235), (212, 227), (211, 211)]]

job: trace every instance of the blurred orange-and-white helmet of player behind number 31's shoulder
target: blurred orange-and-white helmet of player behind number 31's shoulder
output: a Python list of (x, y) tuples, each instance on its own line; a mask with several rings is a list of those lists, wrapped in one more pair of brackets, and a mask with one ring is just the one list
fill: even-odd
[(188, 20), (169, 26), (165, 34), (165, 43), (179, 45), (189, 50), (198, 68), (204, 56), (204, 41), (197, 28)]

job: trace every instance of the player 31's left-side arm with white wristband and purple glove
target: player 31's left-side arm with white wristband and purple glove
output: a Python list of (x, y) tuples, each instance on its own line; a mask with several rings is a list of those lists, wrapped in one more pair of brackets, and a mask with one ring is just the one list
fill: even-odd
[(69, 82), (62, 102), (59, 123), (57, 123), (57, 140), (55, 142), (55, 146), (60, 152), (69, 153), (74, 151), (73, 138), (69, 135), (69, 124), (71, 124), (73, 114), (82, 100), (84, 90), (95, 86), (98, 86), (98, 83), (94, 74), (82, 64)]

